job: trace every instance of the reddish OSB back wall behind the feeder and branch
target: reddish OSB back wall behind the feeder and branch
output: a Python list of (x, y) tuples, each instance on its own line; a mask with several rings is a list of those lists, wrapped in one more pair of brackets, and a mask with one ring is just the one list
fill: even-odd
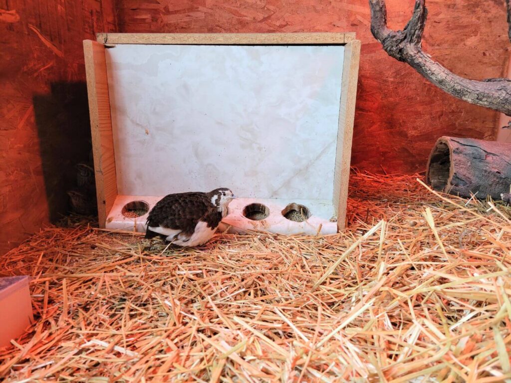
[[(402, 29), (413, 0), (387, 0)], [(424, 49), (460, 76), (502, 77), (503, 0), (428, 0)], [(423, 171), (439, 136), (495, 139), (497, 114), (458, 101), (383, 52), (369, 30), (368, 0), (118, 0), (120, 32), (356, 32), (362, 40), (352, 164)]]

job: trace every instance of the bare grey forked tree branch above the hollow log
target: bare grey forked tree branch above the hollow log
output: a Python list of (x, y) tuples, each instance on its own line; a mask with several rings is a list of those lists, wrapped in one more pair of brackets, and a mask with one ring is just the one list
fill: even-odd
[[(511, 0), (508, 19), (511, 17)], [(403, 31), (387, 28), (385, 0), (369, 0), (371, 33), (383, 45), (389, 56), (409, 64), (424, 78), (454, 97), (471, 104), (494, 109), (511, 116), (511, 80), (469, 80), (459, 77), (434, 61), (422, 50), (422, 35), (428, 11), (425, 0), (415, 0), (413, 15)], [(509, 20), (511, 39), (511, 20)]]

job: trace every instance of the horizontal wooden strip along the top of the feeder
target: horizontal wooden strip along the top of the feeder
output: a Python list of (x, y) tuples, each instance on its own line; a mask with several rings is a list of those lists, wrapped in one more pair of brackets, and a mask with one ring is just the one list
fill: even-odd
[(98, 33), (103, 44), (346, 44), (355, 33)]

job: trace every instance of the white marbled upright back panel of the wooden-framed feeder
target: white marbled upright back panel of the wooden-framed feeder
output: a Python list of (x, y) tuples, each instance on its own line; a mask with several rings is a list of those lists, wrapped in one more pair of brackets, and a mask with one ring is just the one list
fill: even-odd
[(106, 50), (119, 195), (331, 201), (343, 57), (341, 45)]

